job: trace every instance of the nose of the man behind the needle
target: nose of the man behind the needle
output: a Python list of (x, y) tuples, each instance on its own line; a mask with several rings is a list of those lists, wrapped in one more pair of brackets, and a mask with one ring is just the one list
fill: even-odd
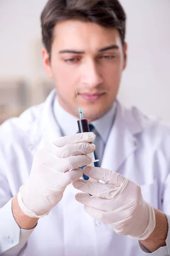
[(96, 87), (102, 84), (103, 78), (95, 61), (86, 61), (82, 66), (81, 84)]

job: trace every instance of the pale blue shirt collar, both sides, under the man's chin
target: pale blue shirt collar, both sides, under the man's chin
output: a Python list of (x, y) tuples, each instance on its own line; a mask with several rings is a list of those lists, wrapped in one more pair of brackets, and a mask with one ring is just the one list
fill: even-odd
[[(77, 133), (78, 118), (65, 111), (65, 109), (62, 108), (62, 106), (59, 104), (57, 97), (54, 100), (53, 111), (56, 121), (61, 128), (63, 136)], [(104, 116), (91, 122), (104, 143), (106, 143), (107, 141), (111, 126), (113, 124), (115, 113), (116, 102), (114, 102), (113, 107)]]

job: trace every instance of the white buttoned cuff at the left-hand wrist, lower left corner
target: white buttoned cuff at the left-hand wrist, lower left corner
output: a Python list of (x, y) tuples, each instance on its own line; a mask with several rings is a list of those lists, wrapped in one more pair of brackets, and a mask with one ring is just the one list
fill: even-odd
[(21, 249), (26, 247), (26, 241), (34, 228), (31, 230), (20, 229), (12, 214), (11, 198), (11, 200), (0, 209), (0, 255), (3, 253), (3, 255), (17, 256)]

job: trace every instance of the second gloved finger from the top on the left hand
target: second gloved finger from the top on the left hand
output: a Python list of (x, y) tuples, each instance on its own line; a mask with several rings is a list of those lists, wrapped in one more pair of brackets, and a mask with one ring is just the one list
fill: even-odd
[(52, 143), (46, 148), (46, 150), (50, 151), (52, 154), (59, 158), (66, 158), (70, 156), (90, 154), (94, 152), (95, 145), (92, 143), (85, 142), (69, 144), (63, 147), (57, 147)]

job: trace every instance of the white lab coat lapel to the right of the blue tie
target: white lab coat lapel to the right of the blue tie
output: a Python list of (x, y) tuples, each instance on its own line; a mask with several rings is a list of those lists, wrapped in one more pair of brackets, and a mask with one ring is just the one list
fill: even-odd
[(140, 131), (141, 127), (130, 111), (117, 102), (116, 116), (105, 146), (101, 167), (118, 171), (127, 157), (136, 150), (138, 141), (135, 134)]

